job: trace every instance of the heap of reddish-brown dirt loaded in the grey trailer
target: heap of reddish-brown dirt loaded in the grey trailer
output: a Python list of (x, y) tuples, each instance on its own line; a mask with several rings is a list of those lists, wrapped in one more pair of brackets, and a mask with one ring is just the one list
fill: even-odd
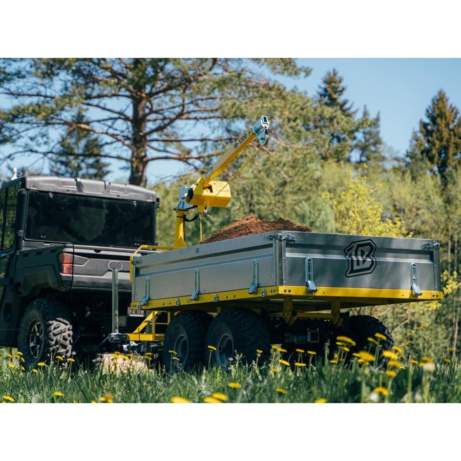
[(299, 231), (312, 232), (307, 226), (295, 224), (287, 219), (279, 218), (275, 221), (268, 219), (258, 219), (255, 215), (245, 216), (242, 219), (234, 221), (211, 236), (202, 240), (200, 243), (219, 242), (220, 240), (234, 239), (244, 237), (245, 235), (261, 234), (269, 231)]

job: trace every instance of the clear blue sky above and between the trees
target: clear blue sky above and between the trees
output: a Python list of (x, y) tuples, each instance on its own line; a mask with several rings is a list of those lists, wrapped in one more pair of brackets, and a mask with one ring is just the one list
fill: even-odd
[[(303, 79), (279, 79), (287, 87), (296, 86), (308, 95), (316, 93), (322, 77), (332, 68), (344, 77), (345, 96), (361, 113), (366, 104), (371, 115), (381, 113), (381, 135), (384, 142), (403, 155), (411, 133), (424, 117), (431, 98), (442, 88), (449, 100), (461, 108), (461, 59), (347, 59), (303, 58), (299, 64), (312, 68)], [(0, 98), (0, 104), (4, 100)], [(2, 149), (0, 149), (0, 155)], [(18, 159), (15, 164), (27, 164)], [(41, 163), (38, 162), (38, 165)], [(184, 172), (178, 162), (154, 162), (148, 170), (149, 182)], [(128, 172), (113, 164), (108, 180), (126, 180)], [(46, 171), (44, 171), (46, 173)]]

